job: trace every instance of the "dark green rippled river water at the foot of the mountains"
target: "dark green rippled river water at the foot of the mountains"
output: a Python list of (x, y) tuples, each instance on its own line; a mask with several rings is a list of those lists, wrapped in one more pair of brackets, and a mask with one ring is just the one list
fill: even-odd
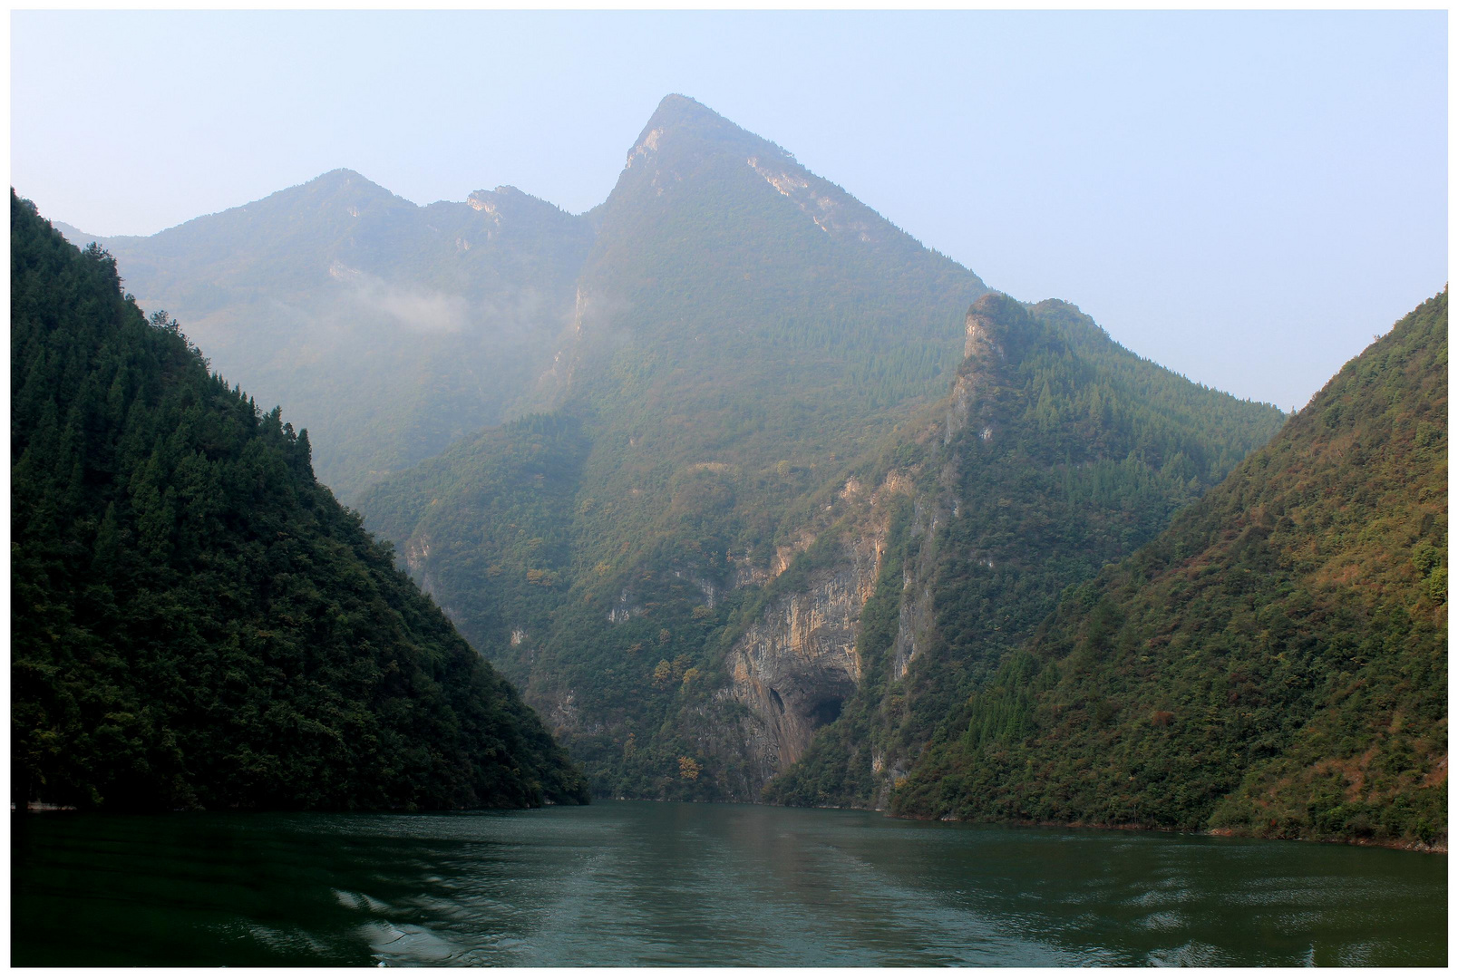
[(1446, 964), (1448, 858), (875, 813), (12, 817), (13, 964)]

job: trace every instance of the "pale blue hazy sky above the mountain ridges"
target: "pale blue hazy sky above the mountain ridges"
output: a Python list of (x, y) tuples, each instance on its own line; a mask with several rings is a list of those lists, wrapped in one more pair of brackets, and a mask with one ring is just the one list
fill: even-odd
[(1446, 36), (1445, 12), (15, 12), (10, 179), (98, 235), (338, 166), (582, 211), (681, 92), (989, 286), (1290, 408), (1448, 278)]

